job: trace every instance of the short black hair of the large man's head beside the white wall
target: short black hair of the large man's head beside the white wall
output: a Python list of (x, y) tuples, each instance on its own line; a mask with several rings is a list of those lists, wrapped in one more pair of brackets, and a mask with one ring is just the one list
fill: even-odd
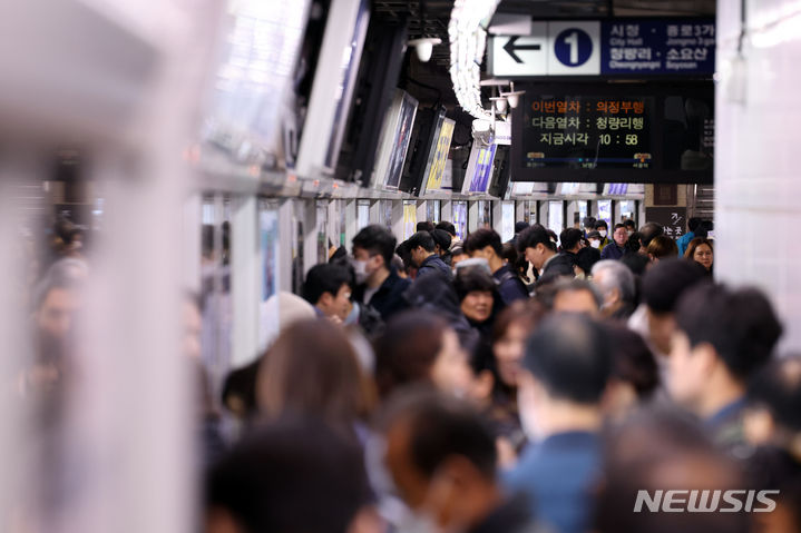
[(681, 297), (676, 324), (692, 346), (711, 344), (737, 378), (766, 363), (782, 334), (773, 306), (759, 289), (713, 284), (697, 285)]

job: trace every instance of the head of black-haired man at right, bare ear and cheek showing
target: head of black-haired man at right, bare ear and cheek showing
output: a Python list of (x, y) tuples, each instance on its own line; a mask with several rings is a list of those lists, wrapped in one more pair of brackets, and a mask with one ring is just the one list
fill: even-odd
[(768, 363), (782, 334), (782, 325), (761, 292), (713, 284), (696, 285), (681, 297), (676, 325), (668, 391), (676, 402), (702, 416), (722, 407), (724, 389), (744, 394), (748, 379)]

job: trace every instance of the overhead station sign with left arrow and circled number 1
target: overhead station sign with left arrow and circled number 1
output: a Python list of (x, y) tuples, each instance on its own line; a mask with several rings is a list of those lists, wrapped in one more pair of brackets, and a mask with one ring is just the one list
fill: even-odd
[(714, 19), (533, 22), (528, 36), (495, 36), (495, 77), (712, 75)]

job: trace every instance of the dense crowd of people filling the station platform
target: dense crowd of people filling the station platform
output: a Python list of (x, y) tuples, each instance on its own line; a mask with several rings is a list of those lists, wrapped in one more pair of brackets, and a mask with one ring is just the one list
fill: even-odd
[(690, 230), (361, 229), (229, 376), (206, 531), (801, 531), (801, 359)]

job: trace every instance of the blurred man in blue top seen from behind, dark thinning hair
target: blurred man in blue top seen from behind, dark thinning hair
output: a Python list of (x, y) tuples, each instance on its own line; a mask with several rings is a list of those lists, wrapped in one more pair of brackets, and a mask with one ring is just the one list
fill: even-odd
[(608, 333), (583, 314), (545, 318), (529, 337), (518, 406), (531, 441), (504, 482), (557, 533), (589, 530), (600, 466), (602, 396), (613, 371)]

